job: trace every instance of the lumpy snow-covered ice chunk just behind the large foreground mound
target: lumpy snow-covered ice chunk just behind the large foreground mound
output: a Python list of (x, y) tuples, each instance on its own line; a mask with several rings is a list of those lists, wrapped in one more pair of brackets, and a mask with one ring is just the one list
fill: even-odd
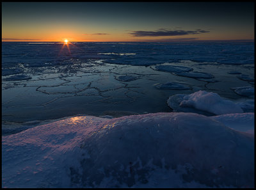
[(202, 90), (191, 93), (190, 95), (173, 95), (169, 97), (167, 104), (175, 112), (190, 112), (191, 109), (194, 109), (193, 112), (196, 111), (196, 113), (204, 114), (202, 113), (202, 111), (204, 111), (205, 113), (212, 113), (213, 115), (243, 113), (243, 109), (231, 100), (221, 98), (218, 93)]

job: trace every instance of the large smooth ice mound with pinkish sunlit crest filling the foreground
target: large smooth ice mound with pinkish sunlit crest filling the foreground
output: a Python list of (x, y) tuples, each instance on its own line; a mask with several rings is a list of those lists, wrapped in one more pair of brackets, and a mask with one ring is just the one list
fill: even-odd
[(78, 116), (4, 136), (2, 187), (253, 187), (253, 136), (218, 120)]

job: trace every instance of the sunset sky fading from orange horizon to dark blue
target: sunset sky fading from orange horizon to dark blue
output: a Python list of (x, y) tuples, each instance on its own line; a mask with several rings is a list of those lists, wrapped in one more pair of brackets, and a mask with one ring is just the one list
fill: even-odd
[(4, 2), (2, 42), (254, 40), (253, 2)]

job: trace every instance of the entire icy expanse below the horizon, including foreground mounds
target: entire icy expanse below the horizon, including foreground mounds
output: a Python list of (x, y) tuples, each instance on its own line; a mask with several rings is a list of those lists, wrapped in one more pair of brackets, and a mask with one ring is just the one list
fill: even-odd
[(253, 42), (68, 47), (2, 43), (2, 187), (254, 187)]

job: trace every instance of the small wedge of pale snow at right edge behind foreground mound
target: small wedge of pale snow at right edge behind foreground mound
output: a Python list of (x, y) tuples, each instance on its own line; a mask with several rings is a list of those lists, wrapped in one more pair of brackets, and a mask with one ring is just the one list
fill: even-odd
[(254, 113), (229, 113), (212, 116), (227, 127), (254, 135)]

